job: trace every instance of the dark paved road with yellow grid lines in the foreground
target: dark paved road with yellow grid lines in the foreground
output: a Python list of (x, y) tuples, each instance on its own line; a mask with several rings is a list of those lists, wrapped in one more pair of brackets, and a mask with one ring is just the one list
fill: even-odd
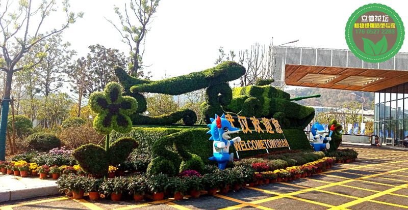
[(288, 183), (246, 187), (199, 198), (135, 202), (108, 198), (93, 202), (67, 197), (2, 203), (2, 210), (25, 209), (403, 209), (408, 208), (408, 152), (353, 147), (359, 159)]

